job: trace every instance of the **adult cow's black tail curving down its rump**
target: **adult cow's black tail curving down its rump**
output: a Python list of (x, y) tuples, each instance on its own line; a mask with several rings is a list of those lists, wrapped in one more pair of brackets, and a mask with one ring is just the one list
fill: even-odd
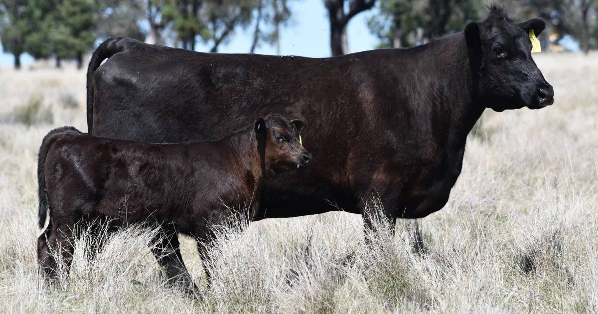
[(91, 54), (91, 60), (87, 66), (87, 133), (89, 134), (93, 129), (93, 72), (102, 64), (103, 60), (125, 50), (126, 44), (130, 42), (137, 41), (129, 37), (110, 38), (102, 42)]

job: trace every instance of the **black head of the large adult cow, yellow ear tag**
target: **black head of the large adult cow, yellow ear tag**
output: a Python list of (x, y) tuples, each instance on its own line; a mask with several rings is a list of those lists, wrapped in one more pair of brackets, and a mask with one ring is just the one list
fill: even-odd
[(539, 35), (544, 21), (514, 23), (504, 8), (490, 7), (489, 17), (465, 28), (477, 96), (495, 111), (527, 106), (539, 109), (554, 102), (553, 87), (532, 59), (530, 30)]

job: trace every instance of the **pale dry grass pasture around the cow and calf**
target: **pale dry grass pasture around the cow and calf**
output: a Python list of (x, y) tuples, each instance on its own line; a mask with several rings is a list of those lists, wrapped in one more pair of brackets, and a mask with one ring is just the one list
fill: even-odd
[[(0, 312), (596, 313), (598, 54), (535, 59), (554, 105), (484, 112), (440, 212), (399, 220), (373, 249), (343, 212), (222, 228), (203, 300), (164, 283), (152, 230), (135, 227), (93, 261), (83, 234), (70, 276), (44, 285), (36, 154), (54, 127), (87, 129), (85, 72), (0, 69)], [(205, 288), (195, 243), (182, 242)]]

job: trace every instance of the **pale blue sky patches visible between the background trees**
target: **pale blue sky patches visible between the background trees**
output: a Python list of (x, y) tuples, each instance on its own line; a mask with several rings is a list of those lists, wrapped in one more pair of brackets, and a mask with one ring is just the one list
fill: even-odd
[[(280, 54), (305, 57), (330, 56), (329, 28), (327, 12), (322, 0), (289, 1), (291, 3), (291, 21), (281, 29)], [(367, 19), (373, 12), (365, 11), (349, 22), (347, 29), (349, 52), (373, 49), (378, 39), (371, 35), (367, 27)], [(219, 53), (248, 53), (251, 47), (253, 29), (238, 28), (228, 42), (219, 46)], [(209, 51), (209, 44), (198, 44), (197, 51)], [(276, 48), (262, 44), (255, 53), (276, 54)], [(12, 54), (0, 56), (0, 66), (13, 65)], [(27, 66), (33, 62), (29, 55), (21, 56), (21, 64)]]

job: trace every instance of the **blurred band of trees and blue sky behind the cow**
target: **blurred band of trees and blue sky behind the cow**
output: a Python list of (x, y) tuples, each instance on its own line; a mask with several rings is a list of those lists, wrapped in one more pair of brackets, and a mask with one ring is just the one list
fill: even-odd
[[(517, 22), (541, 17), (550, 52), (598, 47), (595, 0), (496, 1)], [(0, 67), (73, 63), (112, 36), (221, 53), (326, 57), (412, 47), (487, 14), (483, 0), (1, 0)]]

